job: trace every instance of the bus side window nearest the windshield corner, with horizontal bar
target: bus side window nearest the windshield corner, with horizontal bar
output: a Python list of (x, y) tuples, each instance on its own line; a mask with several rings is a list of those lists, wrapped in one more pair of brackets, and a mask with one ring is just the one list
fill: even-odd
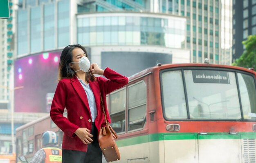
[(146, 122), (146, 84), (139, 81), (128, 86), (128, 131), (144, 127)]

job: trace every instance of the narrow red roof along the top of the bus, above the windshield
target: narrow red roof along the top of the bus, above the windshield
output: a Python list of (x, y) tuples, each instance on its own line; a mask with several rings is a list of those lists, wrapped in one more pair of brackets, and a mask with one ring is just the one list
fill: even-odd
[(129, 81), (133, 81), (137, 79), (138, 77), (141, 77), (143, 75), (147, 75), (150, 72), (153, 72), (155, 70), (161, 70), (166, 68), (175, 68), (175, 67), (214, 67), (214, 68), (228, 68), (228, 69), (234, 69), (234, 70), (242, 70), (246, 71), (248, 73), (253, 73), (256, 76), (256, 72), (254, 70), (249, 70), (247, 68), (238, 67), (238, 66), (229, 66), (229, 65), (221, 65), (221, 64), (201, 64), (201, 63), (186, 63), (186, 64), (163, 64), (161, 66), (154, 66), (147, 68), (145, 70), (140, 71), (139, 73), (136, 73), (129, 77)]

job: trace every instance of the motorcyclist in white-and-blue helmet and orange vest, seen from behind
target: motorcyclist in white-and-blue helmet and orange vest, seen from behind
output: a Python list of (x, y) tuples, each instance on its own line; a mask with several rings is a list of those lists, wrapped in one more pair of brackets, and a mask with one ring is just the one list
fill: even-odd
[(43, 148), (38, 150), (29, 163), (61, 163), (62, 150), (57, 145), (57, 135), (46, 131), (42, 136)]

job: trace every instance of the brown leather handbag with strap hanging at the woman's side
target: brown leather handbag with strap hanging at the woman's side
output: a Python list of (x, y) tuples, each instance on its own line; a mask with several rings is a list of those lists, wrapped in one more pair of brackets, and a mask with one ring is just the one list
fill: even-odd
[(101, 148), (101, 151), (106, 161), (109, 163), (109, 162), (120, 160), (120, 153), (117, 147), (117, 143), (115, 142), (115, 139), (117, 139), (117, 134), (112, 129), (112, 127), (108, 124), (108, 121), (106, 118), (106, 112), (103, 106), (102, 97), (101, 97), (101, 106), (102, 106), (104, 117), (105, 117), (106, 127), (101, 127), (101, 129), (99, 130), (99, 137), (98, 137), (99, 147)]

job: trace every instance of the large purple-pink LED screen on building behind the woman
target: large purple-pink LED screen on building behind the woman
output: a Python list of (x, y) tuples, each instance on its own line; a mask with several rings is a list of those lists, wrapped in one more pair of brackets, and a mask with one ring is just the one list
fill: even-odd
[(40, 53), (14, 63), (15, 112), (49, 112), (58, 83), (61, 52)]

